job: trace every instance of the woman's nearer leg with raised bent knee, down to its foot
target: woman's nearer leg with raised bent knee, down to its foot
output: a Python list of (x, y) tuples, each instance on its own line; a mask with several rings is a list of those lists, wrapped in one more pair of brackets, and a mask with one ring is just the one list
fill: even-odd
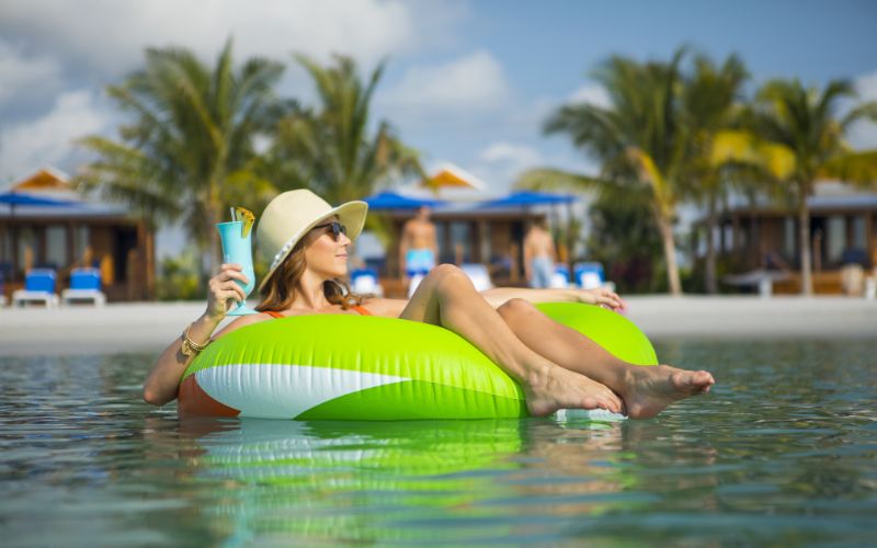
[(522, 343), (456, 266), (433, 269), (399, 317), (441, 326), (472, 343), (521, 383), (534, 415), (562, 408), (622, 410), (612, 390), (559, 367)]

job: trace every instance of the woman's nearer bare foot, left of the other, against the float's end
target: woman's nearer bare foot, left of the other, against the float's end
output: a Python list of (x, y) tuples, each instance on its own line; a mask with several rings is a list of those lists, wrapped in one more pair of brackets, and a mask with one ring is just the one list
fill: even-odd
[(558, 409), (623, 411), (622, 399), (607, 386), (556, 365), (532, 375), (524, 385), (524, 395), (529, 414), (534, 416), (549, 415)]

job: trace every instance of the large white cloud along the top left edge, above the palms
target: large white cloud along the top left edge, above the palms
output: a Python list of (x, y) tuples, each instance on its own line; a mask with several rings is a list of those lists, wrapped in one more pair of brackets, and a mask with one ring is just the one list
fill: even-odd
[(212, 58), (229, 35), (238, 58), (350, 53), (372, 64), (415, 49), (417, 22), (411, 4), (398, 0), (5, 0), (0, 5), (4, 35), (104, 76), (136, 67), (145, 46), (182, 45)]

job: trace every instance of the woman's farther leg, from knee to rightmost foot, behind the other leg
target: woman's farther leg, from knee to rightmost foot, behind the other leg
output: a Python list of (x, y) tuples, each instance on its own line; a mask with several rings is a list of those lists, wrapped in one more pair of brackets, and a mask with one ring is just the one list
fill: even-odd
[(715, 383), (708, 372), (690, 372), (668, 365), (642, 367), (618, 359), (588, 336), (554, 321), (524, 299), (512, 299), (497, 311), (531, 350), (615, 390), (631, 418), (654, 416), (676, 400), (708, 391)]

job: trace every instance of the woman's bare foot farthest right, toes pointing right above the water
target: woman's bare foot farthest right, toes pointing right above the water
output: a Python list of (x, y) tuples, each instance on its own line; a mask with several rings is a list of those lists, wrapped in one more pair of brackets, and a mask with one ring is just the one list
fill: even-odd
[(674, 401), (708, 392), (715, 384), (709, 372), (690, 372), (669, 365), (637, 366), (625, 383), (625, 408), (631, 419), (649, 419)]

